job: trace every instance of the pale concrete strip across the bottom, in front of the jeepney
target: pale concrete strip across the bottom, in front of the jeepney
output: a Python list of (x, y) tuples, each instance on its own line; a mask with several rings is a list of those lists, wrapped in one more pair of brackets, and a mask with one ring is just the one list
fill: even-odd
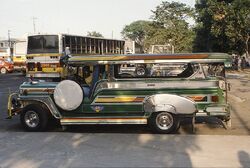
[(249, 167), (250, 136), (0, 133), (0, 167)]

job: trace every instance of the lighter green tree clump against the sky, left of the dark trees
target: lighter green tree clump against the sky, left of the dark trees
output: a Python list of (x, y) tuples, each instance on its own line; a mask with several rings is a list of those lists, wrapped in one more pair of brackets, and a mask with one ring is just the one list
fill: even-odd
[(135, 21), (122, 31), (125, 38), (136, 41), (144, 49), (150, 45), (171, 44), (175, 52), (192, 50), (193, 30), (187, 19), (193, 17), (193, 9), (183, 3), (162, 2), (152, 11), (152, 21)]

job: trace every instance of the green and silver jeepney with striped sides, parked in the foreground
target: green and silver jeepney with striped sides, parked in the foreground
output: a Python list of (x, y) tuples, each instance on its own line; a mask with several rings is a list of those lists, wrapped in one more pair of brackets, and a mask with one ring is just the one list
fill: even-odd
[(9, 118), (20, 115), (28, 131), (45, 130), (50, 117), (63, 127), (148, 124), (157, 133), (176, 131), (187, 117), (193, 124), (197, 116), (230, 122), (227, 54), (90, 55), (63, 62), (67, 79), (24, 82), (9, 96)]

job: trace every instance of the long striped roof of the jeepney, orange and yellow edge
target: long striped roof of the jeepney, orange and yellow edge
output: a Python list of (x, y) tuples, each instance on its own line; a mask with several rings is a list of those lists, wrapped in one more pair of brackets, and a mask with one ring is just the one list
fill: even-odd
[(69, 58), (68, 64), (230, 62), (230, 58), (226, 53), (84, 55)]

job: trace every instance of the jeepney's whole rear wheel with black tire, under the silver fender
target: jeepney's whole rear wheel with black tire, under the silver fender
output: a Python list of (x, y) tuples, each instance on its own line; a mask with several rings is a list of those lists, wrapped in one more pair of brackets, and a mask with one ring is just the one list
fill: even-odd
[(176, 115), (169, 112), (153, 113), (149, 118), (149, 126), (155, 133), (169, 134), (175, 132), (180, 125)]

